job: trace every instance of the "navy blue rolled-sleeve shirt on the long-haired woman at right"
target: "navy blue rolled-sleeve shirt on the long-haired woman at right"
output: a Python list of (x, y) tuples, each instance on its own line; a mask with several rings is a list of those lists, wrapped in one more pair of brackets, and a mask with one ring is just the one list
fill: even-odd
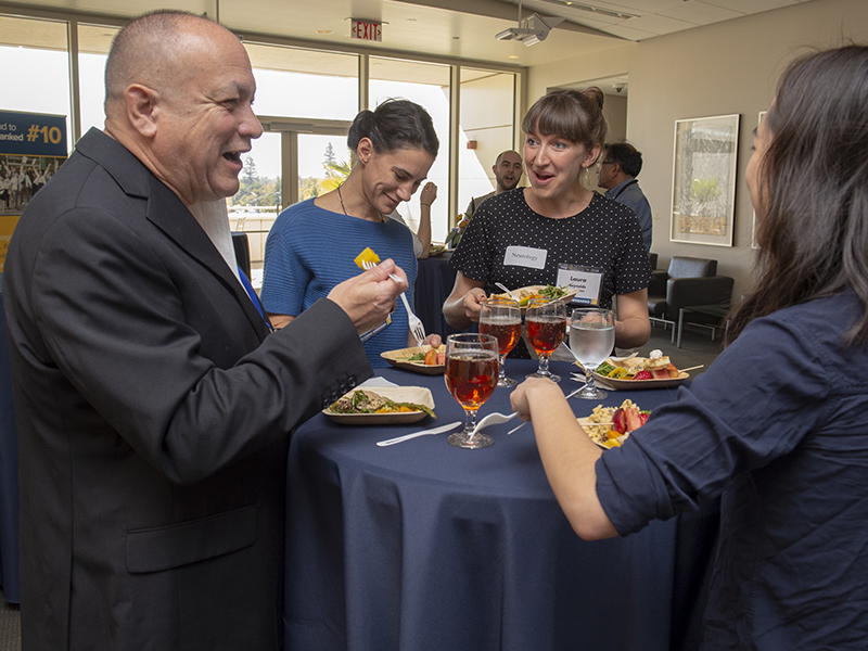
[(852, 292), (757, 319), (597, 462), (626, 535), (723, 494), (703, 649), (868, 644), (868, 348)]

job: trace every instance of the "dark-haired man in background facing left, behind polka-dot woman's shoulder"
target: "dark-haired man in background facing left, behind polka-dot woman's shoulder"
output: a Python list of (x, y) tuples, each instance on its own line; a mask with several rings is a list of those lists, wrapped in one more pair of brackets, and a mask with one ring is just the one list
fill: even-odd
[(653, 221), (651, 205), (639, 188), (637, 176), (642, 170), (642, 153), (628, 142), (607, 144), (600, 156), (602, 163), (598, 171), (597, 184), (605, 188), (605, 195), (633, 208), (642, 227), (644, 248), (651, 253)]

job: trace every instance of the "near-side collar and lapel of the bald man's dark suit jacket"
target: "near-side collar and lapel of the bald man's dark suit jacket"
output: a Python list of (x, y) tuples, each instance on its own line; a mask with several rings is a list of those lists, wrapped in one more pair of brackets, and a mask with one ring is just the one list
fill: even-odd
[(217, 276), (238, 301), (260, 340), (268, 334), (263, 317), (226, 260), (199, 226), (183, 202), (123, 144), (99, 129), (76, 143), (84, 155), (99, 163), (127, 194), (148, 200), (146, 218), (210, 273)]

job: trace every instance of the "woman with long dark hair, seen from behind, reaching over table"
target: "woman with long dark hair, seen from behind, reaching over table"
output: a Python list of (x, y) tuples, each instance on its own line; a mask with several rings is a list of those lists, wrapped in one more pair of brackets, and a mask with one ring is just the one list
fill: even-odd
[(754, 148), (757, 281), (712, 367), (605, 452), (551, 383), (512, 405), (583, 538), (722, 495), (703, 649), (864, 649), (868, 48), (794, 62)]

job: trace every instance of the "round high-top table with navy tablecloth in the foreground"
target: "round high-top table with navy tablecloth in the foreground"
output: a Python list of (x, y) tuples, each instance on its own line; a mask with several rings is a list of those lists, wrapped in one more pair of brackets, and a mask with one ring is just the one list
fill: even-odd
[[(535, 368), (535, 361), (507, 362), (516, 379)], [(564, 378), (575, 368), (552, 362)], [(346, 426), (320, 413), (295, 433), (288, 480), (288, 649), (695, 646), (713, 514), (586, 542), (551, 493), (532, 425), (511, 436), (516, 421), (492, 426), (486, 432), (495, 444), (482, 450), (455, 448), (448, 434), (376, 447), (384, 438), (463, 420), (442, 375), (379, 374), (431, 388), (437, 420)], [(562, 383), (565, 391), (576, 386)], [(480, 418), (509, 413), (509, 393), (498, 388)], [(629, 397), (653, 409), (674, 396), (674, 390), (611, 392), (603, 404)], [(577, 416), (597, 405), (571, 404)]]

